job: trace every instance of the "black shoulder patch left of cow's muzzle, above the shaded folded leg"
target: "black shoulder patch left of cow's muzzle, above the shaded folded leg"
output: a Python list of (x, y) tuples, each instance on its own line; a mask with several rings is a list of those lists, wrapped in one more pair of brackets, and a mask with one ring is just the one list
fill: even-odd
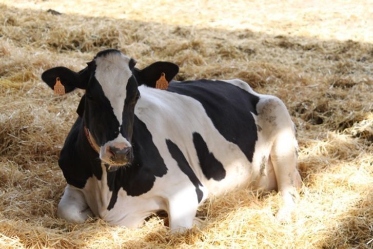
[(68, 184), (83, 188), (93, 174), (101, 179), (101, 161), (91, 148), (87, 139), (82, 136), (82, 118), (78, 117), (72, 126), (61, 150), (58, 165), (62, 169)]

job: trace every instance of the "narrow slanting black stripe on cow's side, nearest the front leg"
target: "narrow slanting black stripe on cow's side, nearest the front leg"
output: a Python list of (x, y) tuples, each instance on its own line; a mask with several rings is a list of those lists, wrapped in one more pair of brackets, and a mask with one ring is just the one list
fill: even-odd
[(190, 167), (188, 161), (184, 157), (184, 154), (180, 150), (178, 145), (174, 144), (171, 140), (168, 139), (166, 139), (166, 144), (172, 158), (175, 159), (181, 171), (183, 171), (183, 173), (187, 175), (189, 180), (193, 183), (195, 187), (195, 193), (197, 194), (198, 203), (200, 203), (203, 197), (203, 192), (200, 189), (202, 183), (200, 182), (200, 180), (198, 180), (197, 176), (195, 176), (192, 168)]

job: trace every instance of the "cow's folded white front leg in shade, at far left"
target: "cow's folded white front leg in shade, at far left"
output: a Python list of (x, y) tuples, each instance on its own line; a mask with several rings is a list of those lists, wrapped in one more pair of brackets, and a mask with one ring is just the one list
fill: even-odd
[(92, 217), (93, 215), (82, 191), (68, 184), (60, 203), (58, 203), (57, 216), (68, 222), (83, 223), (89, 216)]

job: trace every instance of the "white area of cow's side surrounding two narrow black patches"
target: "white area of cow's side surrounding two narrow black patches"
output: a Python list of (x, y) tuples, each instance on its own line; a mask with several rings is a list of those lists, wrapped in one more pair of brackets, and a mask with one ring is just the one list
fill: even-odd
[[(135, 106), (135, 114), (146, 124), (168, 167), (167, 175), (162, 177), (167, 184), (179, 186), (180, 176), (183, 175), (186, 177), (185, 181), (190, 182), (170, 155), (165, 142), (169, 139), (183, 152), (194, 174), (204, 185), (205, 188), (201, 189), (204, 192), (203, 200), (207, 198), (207, 191), (219, 195), (229, 189), (249, 185), (250, 162), (238, 145), (221, 135), (199, 101), (186, 95), (146, 86), (140, 86), (139, 90), (142, 97)], [(207, 179), (203, 174), (193, 143), (193, 132), (202, 136), (209, 151), (223, 164), (226, 170), (223, 180)], [(167, 194), (172, 195), (171, 192), (175, 190), (169, 189)]]

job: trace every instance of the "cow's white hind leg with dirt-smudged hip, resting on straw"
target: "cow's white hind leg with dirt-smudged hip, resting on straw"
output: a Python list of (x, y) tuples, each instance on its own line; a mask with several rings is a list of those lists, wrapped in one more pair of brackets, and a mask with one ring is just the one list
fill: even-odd
[(263, 136), (271, 144), (270, 162), (276, 176), (277, 189), (283, 197), (277, 218), (281, 222), (288, 222), (291, 220), (291, 211), (295, 208), (297, 188), (302, 184), (297, 170), (295, 127), (280, 99), (273, 96), (263, 98), (257, 108)]

